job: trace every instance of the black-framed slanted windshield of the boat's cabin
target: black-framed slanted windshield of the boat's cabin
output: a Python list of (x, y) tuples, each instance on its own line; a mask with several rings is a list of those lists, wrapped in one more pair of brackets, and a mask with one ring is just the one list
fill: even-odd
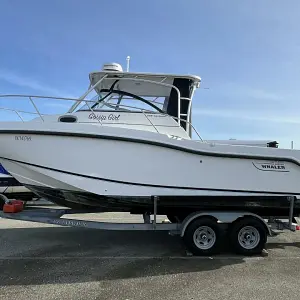
[[(123, 91), (105, 91), (96, 94), (78, 111), (84, 110), (114, 110), (114, 111), (148, 111), (164, 113), (165, 97), (140, 97)], [(84, 103), (84, 102), (83, 102)]]

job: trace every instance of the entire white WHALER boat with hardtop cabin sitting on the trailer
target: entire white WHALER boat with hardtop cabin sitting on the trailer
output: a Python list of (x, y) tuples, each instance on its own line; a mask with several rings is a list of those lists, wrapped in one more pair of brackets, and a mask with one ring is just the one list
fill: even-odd
[[(0, 162), (40, 196), (72, 207), (159, 213), (223, 206), (286, 213), (277, 196), (300, 195), (300, 151), (275, 141), (192, 139), (200, 77), (123, 72), (104, 65), (65, 114), (0, 123)], [(91, 94), (95, 97), (89, 97)], [(51, 98), (53, 99), (53, 97)], [(22, 120), (22, 113), (17, 111)], [(265, 147), (266, 146), (266, 147)]]

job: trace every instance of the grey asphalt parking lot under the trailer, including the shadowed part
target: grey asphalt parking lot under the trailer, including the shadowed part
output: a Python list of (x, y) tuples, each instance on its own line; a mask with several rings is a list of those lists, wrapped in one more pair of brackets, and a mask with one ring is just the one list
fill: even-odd
[[(130, 221), (128, 214), (93, 219)], [(112, 232), (0, 219), (0, 299), (299, 299), (300, 233), (268, 257), (189, 257), (166, 232)]]

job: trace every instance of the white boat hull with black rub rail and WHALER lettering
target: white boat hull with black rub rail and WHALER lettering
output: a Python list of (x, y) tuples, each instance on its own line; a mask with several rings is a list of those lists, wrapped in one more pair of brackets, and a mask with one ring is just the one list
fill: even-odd
[(189, 207), (182, 196), (198, 197), (195, 203), (201, 208), (203, 197), (300, 195), (300, 164), (284, 152), (288, 150), (69, 125), (22, 124), (2, 130), (0, 162), (25, 186), (49, 194), (43, 196), (50, 201), (59, 194), (68, 202), (112, 210), (148, 209), (153, 195), (181, 200), (179, 205), (165, 198), (169, 203), (162, 206), (169, 209)]

